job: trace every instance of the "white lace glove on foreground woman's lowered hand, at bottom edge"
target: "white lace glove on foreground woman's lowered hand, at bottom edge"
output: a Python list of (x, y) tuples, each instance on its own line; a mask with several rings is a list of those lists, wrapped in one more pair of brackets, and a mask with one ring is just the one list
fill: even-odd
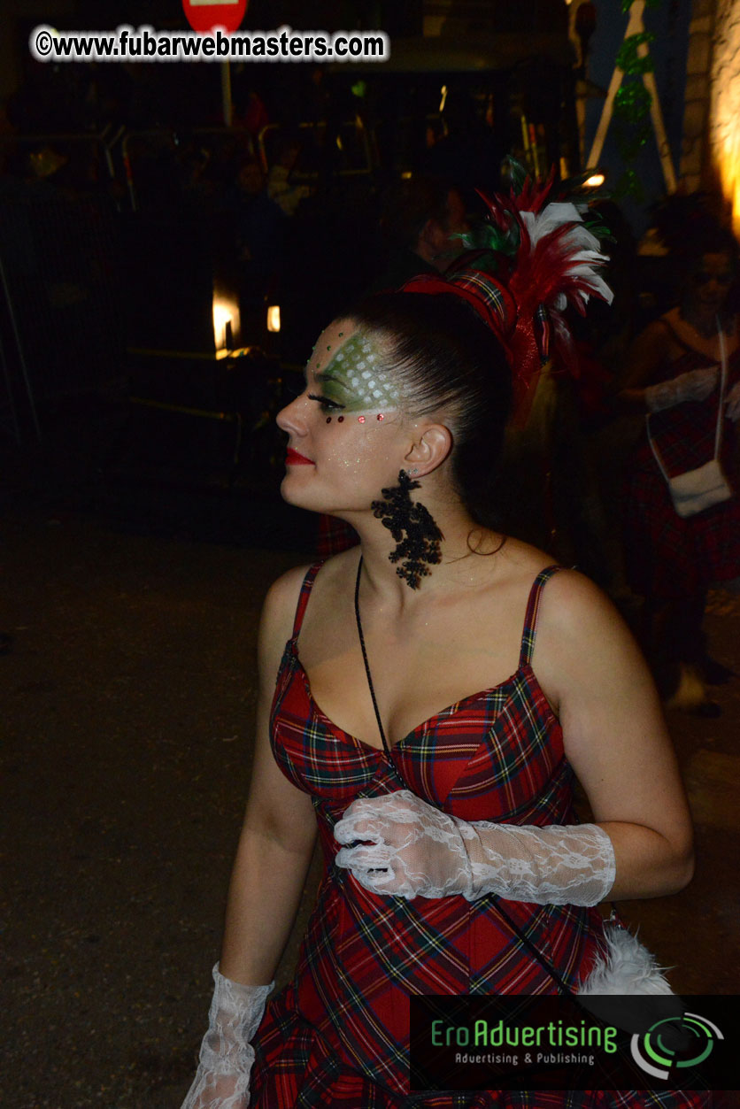
[(209, 1030), (201, 1044), (200, 1065), (182, 1109), (246, 1109), (254, 1048), (250, 1044), (275, 985), (242, 986), (213, 968)]

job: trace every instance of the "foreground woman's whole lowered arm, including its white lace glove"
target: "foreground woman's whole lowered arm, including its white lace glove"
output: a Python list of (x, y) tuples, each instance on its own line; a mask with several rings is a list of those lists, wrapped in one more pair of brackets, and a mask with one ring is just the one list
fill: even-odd
[(270, 747), (270, 709), (302, 571), (272, 587), (260, 624), (260, 693), (254, 765), (232, 872), (221, 963), (199, 1067), (182, 1109), (246, 1109), (260, 1027), (272, 977), (301, 899), (315, 840), (306, 794), (283, 776)]

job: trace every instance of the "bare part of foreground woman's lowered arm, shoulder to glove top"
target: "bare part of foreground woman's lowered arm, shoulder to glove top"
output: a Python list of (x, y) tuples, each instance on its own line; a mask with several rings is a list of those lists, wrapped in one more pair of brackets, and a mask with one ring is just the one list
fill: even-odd
[(291, 634), (303, 573), (303, 569), (292, 570), (275, 582), (260, 624), (254, 764), (221, 955), (221, 973), (245, 985), (264, 985), (275, 973), (316, 840), (311, 798), (287, 781), (270, 746), (275, 678)]

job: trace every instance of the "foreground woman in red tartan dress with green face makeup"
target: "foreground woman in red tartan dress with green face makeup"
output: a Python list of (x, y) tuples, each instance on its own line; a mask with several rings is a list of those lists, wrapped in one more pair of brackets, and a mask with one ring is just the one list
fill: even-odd
[[(399, 293), (322, 334), (280, 414), (283, 496), (361, 543), (284, 574), (265, 602), (254, 769), (187, 1109), (710, 1105), (409, 1096), (409, 995), (557, 993), (517, 927), (575, 988), (607, 894), (668, 894), (692, 872), (631, 638), (588, 580), (491, 519), (509, 396), (500, 344), (468, 304)], [(592, 824), (577, 824), (574, 775)], [(324, 875), (298, 967), (263, 1019), (316, 835)]]

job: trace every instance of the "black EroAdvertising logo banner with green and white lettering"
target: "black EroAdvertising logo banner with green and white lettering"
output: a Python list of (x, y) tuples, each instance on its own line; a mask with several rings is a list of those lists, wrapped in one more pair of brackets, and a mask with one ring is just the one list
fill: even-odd
[(713, 995), (416, 996), (410, 1090), (729, 1090), (739, 1009)]

